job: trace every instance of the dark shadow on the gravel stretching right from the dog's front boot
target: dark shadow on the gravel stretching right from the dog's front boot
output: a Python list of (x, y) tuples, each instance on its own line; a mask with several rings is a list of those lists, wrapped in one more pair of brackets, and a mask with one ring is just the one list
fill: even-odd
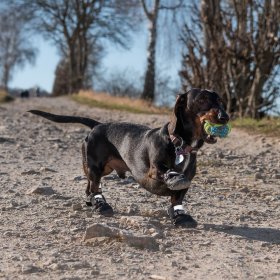
[(240, 236), (249, 240), (280, 244), (280, 229), (276, 228), (204, 224), (204, 229), (224, 232), (229, 235)]

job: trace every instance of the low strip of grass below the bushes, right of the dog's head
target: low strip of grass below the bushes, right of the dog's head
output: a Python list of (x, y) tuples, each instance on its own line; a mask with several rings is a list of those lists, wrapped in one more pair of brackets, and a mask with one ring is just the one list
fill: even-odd
[(249, 118), (236, 119), (233, 127), (245, 129), (251, 133), (265, 134), (267, 136), (280, 136), (280, 117), (269, 117), (261, 120)]

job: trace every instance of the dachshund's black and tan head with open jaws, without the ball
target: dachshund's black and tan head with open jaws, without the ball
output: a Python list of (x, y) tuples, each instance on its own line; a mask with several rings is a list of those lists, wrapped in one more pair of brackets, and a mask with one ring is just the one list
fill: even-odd
[(217, 140), (205, 133), (205, 121), (226, 124), (229, 116), (223, 100), (216, 92), (194, 88), (177, 97), (169, 133), (184, 138), (183, 134), (191, 131), (192, 137), (213, 144)]

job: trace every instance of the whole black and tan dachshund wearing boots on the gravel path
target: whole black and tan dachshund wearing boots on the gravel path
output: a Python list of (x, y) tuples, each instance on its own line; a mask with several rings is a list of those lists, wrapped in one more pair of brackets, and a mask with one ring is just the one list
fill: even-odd
[(205, 120), (226, 124), (229, 116), (223, 101), (213, 91), (191, 89), (177, 97), (171, 121), (161, 128), (131, 123), (99, 123), (76, 116), (60, 116), (29, 111), (54, 122), (81, 123), (92, 130), (82, 145), (83, 168), (88, 178), (87, 204), (110, 216), (112, 207), (100, 188), (101, 177), (116, 171), (120, 178), (127, 171), (151, 193), (170, 196), (168, 214), (176, 226), (195, 227), (182, 202), (196, 173), (196, 152), (215, 137), (203, 129)]

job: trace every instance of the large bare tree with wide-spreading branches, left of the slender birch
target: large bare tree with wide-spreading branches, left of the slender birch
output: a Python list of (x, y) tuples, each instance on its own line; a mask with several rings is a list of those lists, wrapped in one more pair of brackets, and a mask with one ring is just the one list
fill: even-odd
[[(69, 67), (69, 93), (86, 88), (90, 70), (94, 68), (106, 40), (122, 47), (136, 29), (136, 0), (34, 0), (14, 1), (34, 16), (34, 26), (59, 48), (64, 67)], [(59, 66), (60, 67), (60, 66)]]

